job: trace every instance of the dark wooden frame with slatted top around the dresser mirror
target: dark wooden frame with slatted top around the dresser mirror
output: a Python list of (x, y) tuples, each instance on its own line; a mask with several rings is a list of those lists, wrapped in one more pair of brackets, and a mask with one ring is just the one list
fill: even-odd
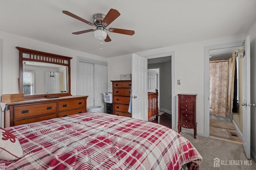
[[(62, 55), (56, 55), (52, 53), (46, 53), (42, 51), (36, 51), (32, 49), (25, 49), (22, 47), (16, 47), (19, 51), (19, 76), (18, 84), (19, 84), (19, 93), (23, 93), (23, 61), (37, 61), (42, 63), (52, 63), (59, 64), (68, 67), (68, 92), (67, 93), (54, 93), (54, 94), (36, 94), (36, 95), (28, 95), (24, 96), (24, 100), (33, 100), (46, 98), (46, 96), (54, 96), (54, 97), (64, 97), (64, 96), (72, 96), (70, 91), (70, 60), (72, 57), (66, 57)], [(23, 53), (29, 54), (29, 58), (23, 57)]]

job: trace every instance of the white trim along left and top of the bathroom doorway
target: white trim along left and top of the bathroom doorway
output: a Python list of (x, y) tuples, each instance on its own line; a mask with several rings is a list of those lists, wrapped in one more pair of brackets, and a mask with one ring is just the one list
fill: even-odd
[(208, 45), (204, 47), (204, 136), (209, 137), (210, 135), (210, 114), (209, 114), (209, 53), (210, 50), (224, 49), (230, 47), (239, 47), (243, 44), (244, 40)]

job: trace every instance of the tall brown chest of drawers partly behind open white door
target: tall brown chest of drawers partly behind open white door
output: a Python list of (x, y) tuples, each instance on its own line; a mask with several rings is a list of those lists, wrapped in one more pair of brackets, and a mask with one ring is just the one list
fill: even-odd
[(112, 81), (114, 115), (132, 117), (132, 114), (128, 112), (131, 87), (132, 80)]

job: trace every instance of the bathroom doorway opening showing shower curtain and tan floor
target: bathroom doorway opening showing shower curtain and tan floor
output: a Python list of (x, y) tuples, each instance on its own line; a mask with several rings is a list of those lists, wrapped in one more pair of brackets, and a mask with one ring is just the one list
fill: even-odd
[(209, 52), (210, 137), (239, 144), (242, 144), (242, 138), (236, 129), (242, 126), (237, 107), (241, 93), (239, 66), (242, 59), (238, 55), (236, 57), (236, 53), (241, 49), (242, 46)]

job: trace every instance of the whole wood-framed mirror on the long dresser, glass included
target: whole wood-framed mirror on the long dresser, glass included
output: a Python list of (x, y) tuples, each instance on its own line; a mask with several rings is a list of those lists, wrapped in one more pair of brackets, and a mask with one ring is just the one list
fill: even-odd
[(16, 47), (19, 50), (19, 93), (24, 100), (71, 96), (72, 57)]

